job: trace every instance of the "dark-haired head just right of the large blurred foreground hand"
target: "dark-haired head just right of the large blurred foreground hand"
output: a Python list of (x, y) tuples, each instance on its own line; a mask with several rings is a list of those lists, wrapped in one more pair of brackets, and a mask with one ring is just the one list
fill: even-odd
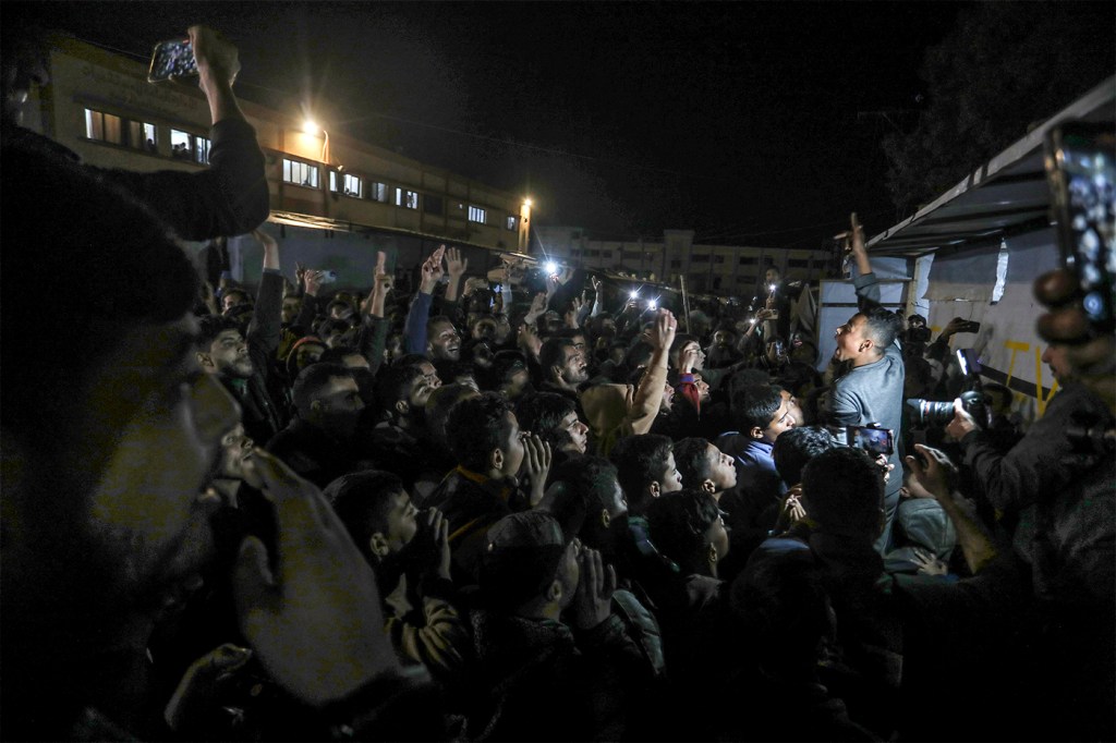
[(419, 531), (419, 510), (392, 472), (365, 470), (341, 475), (323, 494), (373, 566), (403, 551)]

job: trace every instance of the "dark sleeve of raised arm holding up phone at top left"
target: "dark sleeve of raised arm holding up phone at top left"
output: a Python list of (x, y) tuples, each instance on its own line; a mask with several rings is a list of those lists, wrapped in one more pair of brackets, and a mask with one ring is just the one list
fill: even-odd
[(251, 232), (270, 209), (256, 129), (243, 119), (228, 118), (213, 125), (210, 139), (210, 166), (200, 173), (95, 170), (152, 206), (180, 238)]

